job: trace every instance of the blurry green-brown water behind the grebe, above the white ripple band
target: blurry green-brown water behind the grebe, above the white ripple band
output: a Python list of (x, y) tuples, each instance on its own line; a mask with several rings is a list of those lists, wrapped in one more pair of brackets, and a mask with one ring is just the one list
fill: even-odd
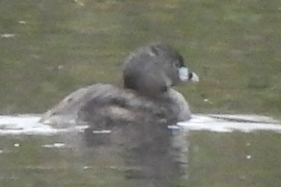
[(42, 113), (85, 85), (121, 85), (137, 47), (172, 44), (201, 78), (195, 113), (279, 117), (279, 0), (1, 0), (0, 114)]

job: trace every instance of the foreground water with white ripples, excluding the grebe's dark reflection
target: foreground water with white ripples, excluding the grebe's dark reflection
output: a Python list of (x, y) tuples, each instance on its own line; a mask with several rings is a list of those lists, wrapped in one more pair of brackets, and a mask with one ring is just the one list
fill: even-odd
[[(81, 129), (40, 124), (39, 115), (0, 117), (2, 186), (141, 186), (128, 179), (118, 146), (88, 148)], [(196, 114), (186, 131), (182, 186), (278, 186), (281, 125), (269, 117)], [(180, 139), (179, 139), (180, 140)], [(181, 141), (181, 140), (180, 140)], [(155, 186), (155, 185), (154, 185)]]

